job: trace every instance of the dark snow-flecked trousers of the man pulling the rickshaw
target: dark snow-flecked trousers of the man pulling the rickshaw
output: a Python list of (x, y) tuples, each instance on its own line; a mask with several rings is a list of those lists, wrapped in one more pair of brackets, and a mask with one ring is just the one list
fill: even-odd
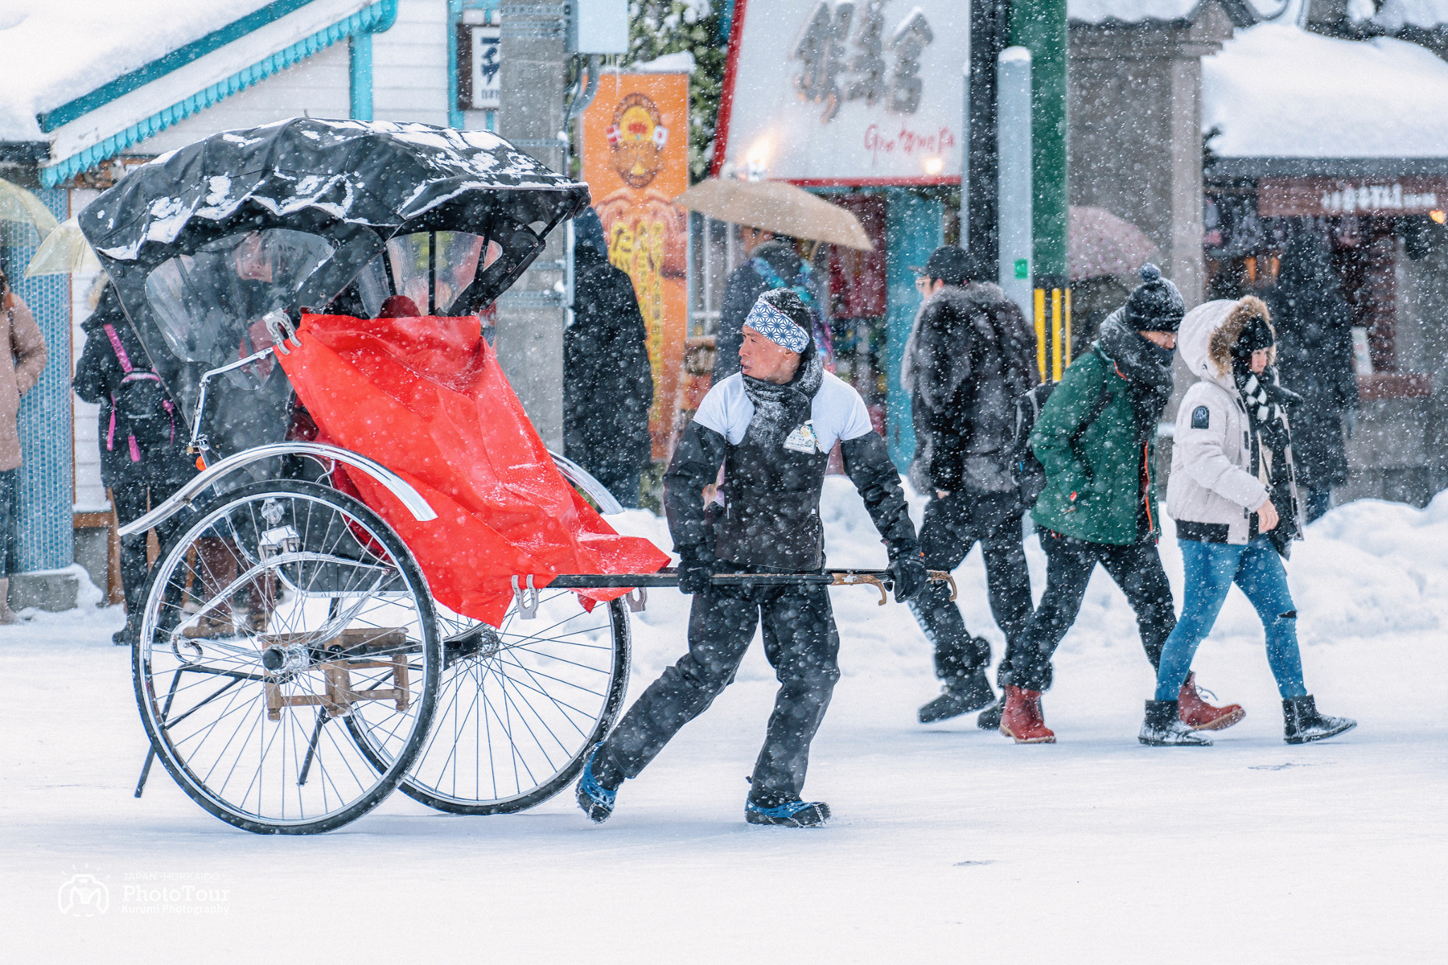
[(822, 586), (695, 595), (689, 652), (649, 684), (604, 742), (595, 762), (604, 784), (637, 777), (679, 728), (708, 709), (734, 680), (760, 619), (779, 693), (749, 799), (763, 807), (799, 799), (809, 742), (840, 679), (840, 635)]

